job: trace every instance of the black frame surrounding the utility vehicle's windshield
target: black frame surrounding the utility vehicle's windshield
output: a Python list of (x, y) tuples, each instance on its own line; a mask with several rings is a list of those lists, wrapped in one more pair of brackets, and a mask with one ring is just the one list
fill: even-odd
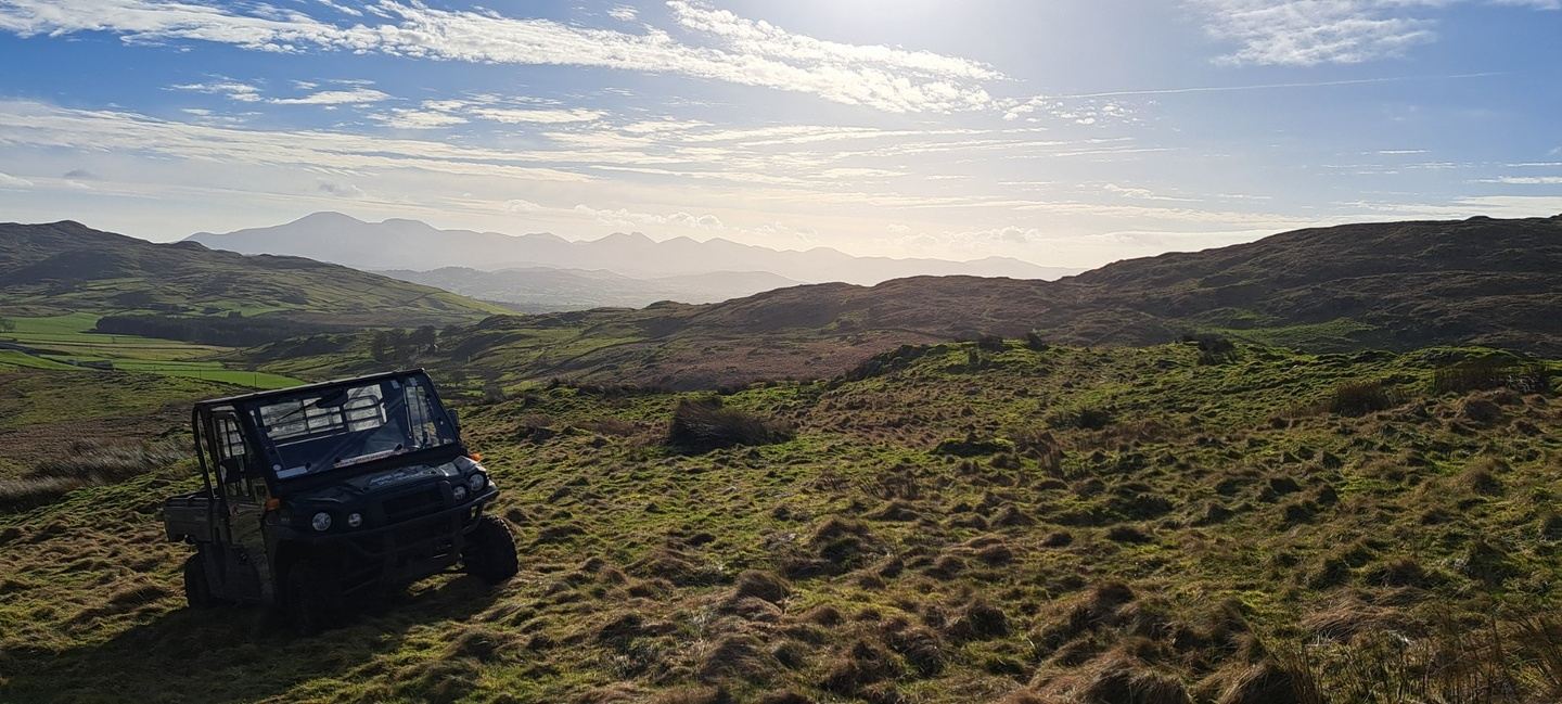
[[(347, 392), (350, 389), (358, 389), (366, 386), (380, 386), (383, 389), (383, 384), (392, 381), (397, 382), (397, 387), (401, 390), (401, 393), (405, 393), (406, 389), (411, 386), (423, 389), (426, 403), (430, 406), (428, 421), (431, 421), (436, 426), (436, 431), (439, 432), (440, 437), (448, 437), (450, 439), (448, 442), (415, 450), (367, 453), (362, 456), (350, 457), (347, 462), (333, 462), (331, 467), (311, 468), (309, 471), (303, 471), (294, 476), (284, 475), (287, 467), (287, 456), (281, 450), (281, 445), (284, 443), (275, 442), (266, 432), (266, 428), (261, 420), (262, 407), (276, 406), (300, 398), (306, 401), (328, 398), (336, 392)], [(322, 481), (323, 482), (339, 481), (361, 475), (364, 471), (380, 470), (387, 465), (401, 465), (401, 464), (415, 464), (430, 460), (442, 462), (465, 454), (465, 443), (461, 440), (459, 426), (455, 423), (450, 409), (445, 407), (444, 400), (439, 396), (439, 389), (423, 372), (408, 372), (400, 375), (376, 375), (373, 378), (344, 379), (341, 382), (333, 382), (333, 384), (311, 384), (308, 387), (297, 389), (297, 392), (280, 390), (276, 393), (267, 393), (258, 398), (236, 403), (234, 406), (241, 418), (241, 423), (245, 426), (244, 428), (245, 434), (250, 437), (250, 443), (258, 451), (256, 459), (259, 460), (258, 464), (261, 465), (259, 470), (264, 471), (267, 482), (270, 482), (273, 487), (280, 485), (300, 487), (305, 484), (316, 484)], [(381, 396), (378, 406), (381, 409), (392, 409), (389, 411), (390, 414), (406, 412), (405, 396), (401, 396), (398, 403), (384, 400), (384, 396)], [(311, 406), (303, 406), (303, 407), (311, 407)], [(386, 425), (389, 425), (389, 421)], [(347, 436), (347, 432), (344, 432), (342, 436)], [(326, 434), (322, 437), (333, 437), (333, 436)]]

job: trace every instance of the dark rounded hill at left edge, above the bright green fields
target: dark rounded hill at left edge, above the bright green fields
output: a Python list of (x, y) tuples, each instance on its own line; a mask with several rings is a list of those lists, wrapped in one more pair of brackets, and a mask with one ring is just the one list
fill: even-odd
[(0, 315), (242, 315), (330, 326), (447, 325), (501, 312), (439, 289), (286, 256), (156, 245), (73, 222), (0, 223)]

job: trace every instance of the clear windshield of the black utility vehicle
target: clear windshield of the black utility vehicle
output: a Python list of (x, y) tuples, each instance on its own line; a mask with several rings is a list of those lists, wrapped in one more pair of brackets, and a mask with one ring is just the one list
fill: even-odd
[(278, 479), (453, 445), (456, 434), (422, 376), (316, 389), (250, 409)]

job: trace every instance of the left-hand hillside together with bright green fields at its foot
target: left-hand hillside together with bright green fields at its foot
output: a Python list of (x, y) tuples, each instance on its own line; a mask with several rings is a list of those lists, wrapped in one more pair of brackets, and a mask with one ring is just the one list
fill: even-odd
[(233, 348), (500, 311), (308, 259), (155, 245), (72, 222), (0, 223), (0, 354), (9, 365), (278, 387), (297, 379), (255, 370)]

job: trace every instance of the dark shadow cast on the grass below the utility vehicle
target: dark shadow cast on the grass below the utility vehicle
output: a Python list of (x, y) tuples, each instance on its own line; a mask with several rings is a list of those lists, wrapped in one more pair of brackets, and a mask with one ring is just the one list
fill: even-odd
[(5, 702), (236, 702), (320, 677), (362, 679), (422, 624), (462, 621), (498, 592), (470, 576), (395, 596), (344, 628), (295, 637), (261, 607), (177, 609), (103, 643), (0, 654)]

